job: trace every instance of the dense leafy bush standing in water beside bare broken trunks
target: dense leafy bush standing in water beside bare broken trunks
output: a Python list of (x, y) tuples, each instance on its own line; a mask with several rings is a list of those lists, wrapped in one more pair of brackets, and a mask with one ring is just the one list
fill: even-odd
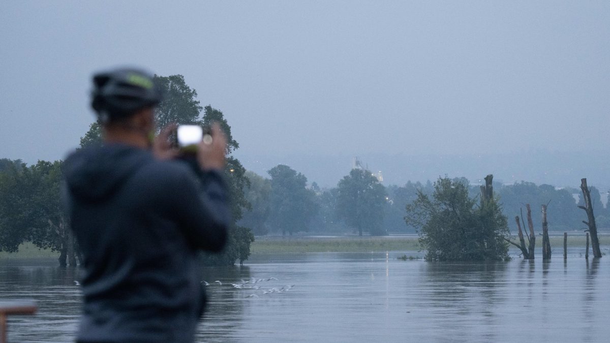
[(418, 229), (426, 259), (434, 261), (487, 261), (508, 259), (510, 237), (506, 216), (496, 199), (468, 196), (464, 182), (439, 178), (431, 197), (418, 192), (406, 206), (405, 220)]

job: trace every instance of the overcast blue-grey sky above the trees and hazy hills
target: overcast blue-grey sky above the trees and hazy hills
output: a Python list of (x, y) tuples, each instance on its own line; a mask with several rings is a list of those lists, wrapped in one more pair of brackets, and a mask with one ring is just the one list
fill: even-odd
[(609, 151), (610, 1), (2, 1), (0, 157), (63, 158), (115, 65), (183, 74), (243, 159)]

